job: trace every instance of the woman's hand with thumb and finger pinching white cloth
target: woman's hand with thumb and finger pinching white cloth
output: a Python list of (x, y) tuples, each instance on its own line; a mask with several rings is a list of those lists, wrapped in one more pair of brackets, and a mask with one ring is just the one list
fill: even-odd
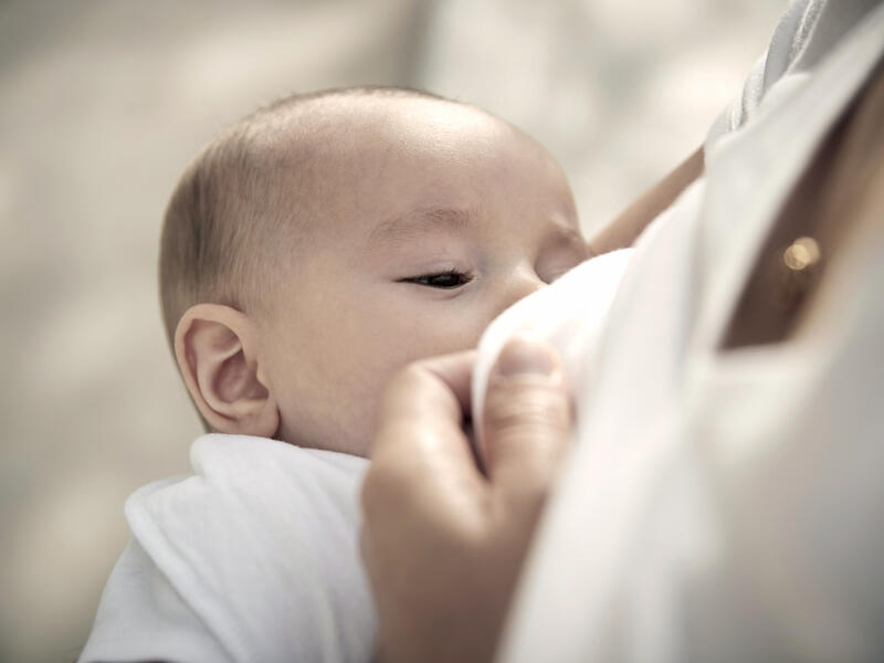
[(558, 357), (511, 341), (485, 399), (483, 474), (463, 422), (474, 352), (389, 385), (362, 488), (362, 555), (385, 663), (490, 661), (570, 435)]

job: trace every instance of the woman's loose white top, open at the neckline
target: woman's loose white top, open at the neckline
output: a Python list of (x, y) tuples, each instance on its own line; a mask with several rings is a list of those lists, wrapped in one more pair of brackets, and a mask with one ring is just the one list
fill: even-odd
[[(580, 364), (579, 443), (501, 661), (884, 657), (882, 225), (828, 256), (801, 333), (719, 347), (781, 203), (884, 51), (878, 2), (797, 2), (786, 24)], [(556, 287), (545, 329), (578, 313)]]

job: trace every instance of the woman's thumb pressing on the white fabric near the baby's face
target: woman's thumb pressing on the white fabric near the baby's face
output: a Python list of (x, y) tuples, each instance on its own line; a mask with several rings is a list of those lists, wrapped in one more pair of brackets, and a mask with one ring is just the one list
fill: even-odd
[(556, 350), (530, 338), (511, 340), (492, 368), (482, 413), (492, 486), (511, 496), (543, 498), (570, 441), (571, 423)]

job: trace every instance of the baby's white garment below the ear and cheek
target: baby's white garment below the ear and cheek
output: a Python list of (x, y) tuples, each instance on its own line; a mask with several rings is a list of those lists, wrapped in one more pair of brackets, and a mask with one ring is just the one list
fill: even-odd
[(203, 435), (194, 475), (126, 502), (133, 538), (80, 661), (370, 661), (364, 459)]

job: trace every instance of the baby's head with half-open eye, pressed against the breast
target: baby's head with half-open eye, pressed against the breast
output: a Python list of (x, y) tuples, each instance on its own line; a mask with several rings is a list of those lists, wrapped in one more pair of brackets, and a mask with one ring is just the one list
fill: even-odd
[(209, 428), (365, 455), (393, 372), (474, 347), (586, 256), (532, 138), (424, 93), (349, 88), (261, 109), (190, 166), (160, 295)]

